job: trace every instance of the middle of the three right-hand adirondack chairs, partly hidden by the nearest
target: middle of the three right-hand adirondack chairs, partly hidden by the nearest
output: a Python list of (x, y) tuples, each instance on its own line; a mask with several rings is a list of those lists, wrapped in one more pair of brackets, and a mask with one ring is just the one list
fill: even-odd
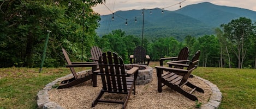
[[(170, 62), (167, 62), (167, 64), (169, 65), (169, 67), (172, 67), (174, 66), (174, 68), (184, 68), (184, 67), (188, 67), (189, 65), (188, 64), (183, 64), (183, 63), (189, 63), (190, 62), (194, 62), (196, 60), (199, 60), (199, 56), (200, 56), (200, 50), (198, 50), (195, 55), (192, 57), (191, 60), (179, 60), (178, 62), (176, 61), (170, 61)], [(197, 68), (197, 65), (195, 65), (195, 68)], [(180, 73), (180, 72), (174, 72), (175, 74), (177, 75), (184, 75), (184, 73)], [(190, 74), (189, 76), (190, 78), (193, 78), (194, 76), (192, 74)]]

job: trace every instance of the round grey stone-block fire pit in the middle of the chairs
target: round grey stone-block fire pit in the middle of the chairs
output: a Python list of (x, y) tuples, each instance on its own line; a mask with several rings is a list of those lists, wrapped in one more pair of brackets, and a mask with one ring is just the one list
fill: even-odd
[(152, 75), (153, 75), (152, 67), (146, 66), (146, 65), (135, 65), (135, 64), (129, 64), (129, 65), (125, 65), (125, 66), (126, 66), (127, 70), (129, 70), (133, 67), (139, 67), (138, 78), (135, 81), (136, 85), (145, 85), (145, 84), (150, 83), (153, 80), (152, 79)]

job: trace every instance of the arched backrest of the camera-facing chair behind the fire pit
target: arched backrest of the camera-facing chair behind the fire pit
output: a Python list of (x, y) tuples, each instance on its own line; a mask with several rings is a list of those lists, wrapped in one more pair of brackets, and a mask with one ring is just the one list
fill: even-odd
[(134, 59), (133, 63), (146, 63), (145, 56), (146, 50), (144, 47), (138, 46), (134, 49)]

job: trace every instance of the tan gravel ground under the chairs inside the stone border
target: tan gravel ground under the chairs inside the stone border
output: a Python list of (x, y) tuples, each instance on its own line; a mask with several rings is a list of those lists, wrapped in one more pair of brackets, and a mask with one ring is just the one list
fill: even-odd
[[(51, 89), (48, 91), (50, 101), (57, 102), (63, 108), (91, 108), (92, 102), (102, 88), (100, 76), (97, 77), (97, 87), (92, 87), (91, 81), (67, 89)], [(211, 88), (198, 78), (188, 79), (192, 84), (204, 89), (205, 93), (193, 92), (199, 102), (206, 104), (211, 97)], [(191, 90), (186, 86), (186, 90)], [(121, 99), (120, 95), (104, 95), (105, 98)], [(120, 104), (98, 103), (93, 108), (122, 108)], [(136, 85), (136, 94), (131, 94), (127, 108), (195, 108), (192, 101), (182, 94), (164, 86), (163, 92), (157, 91), (157, 74), (153, 70), (153, 80), (149, 84)]]

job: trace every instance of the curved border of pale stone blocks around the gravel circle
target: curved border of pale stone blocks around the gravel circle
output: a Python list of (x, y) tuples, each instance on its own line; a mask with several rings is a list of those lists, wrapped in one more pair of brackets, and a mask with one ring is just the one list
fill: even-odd
[[(56, 102), (49, 100), (49, 94), (48, 91), (52, 89), (52, 86), (55, 85), (57, 82), (66, 79), (66, 78), (72, 78), (72, 74), (68, 74), (66, 76), (62, 76), (61, 78), (56, 79), (55, 81), (50, 82), (49, 84), (45, 85), (45, 87), (38, 92), (37, 94), (37, 105), (38, 108), (43, 109), (64, 109), (63, 107), (59, 106)], [(202, 81), (204, 81), (207, 85), (211, 87), (212, 95), (207, 102), (207, 104), (203, 104), (200, 108), (201, 109), (216, 109), (219, 107), (222, 101), (222, 93), (219, 91), (218, 87), (214, 84), (212, 84), (210, 81), (205, 80), (203, 78), (200, 78), (199, 76), (195, 76), (195, 78), (198, 78)]]

